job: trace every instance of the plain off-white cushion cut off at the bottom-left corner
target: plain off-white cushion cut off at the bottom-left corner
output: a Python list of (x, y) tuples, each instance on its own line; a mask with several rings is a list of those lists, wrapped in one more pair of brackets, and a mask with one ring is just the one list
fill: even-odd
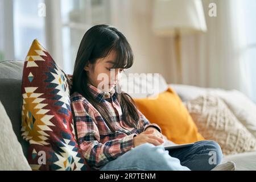
[(0, 101), (0, 171), (31, 171), (22, 146), (13, 131), (10, 118)]

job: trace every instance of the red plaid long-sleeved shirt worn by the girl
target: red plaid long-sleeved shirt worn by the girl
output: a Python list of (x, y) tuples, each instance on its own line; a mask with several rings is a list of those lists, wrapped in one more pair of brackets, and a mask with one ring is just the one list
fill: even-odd
[(129, 151), (133, 145), (133, 138), (146, 130), (147, 127), (156, 127), (138, 110), (139, 122), (137, 128), (127, 126), (122, 119), (122, 110), (116, 98), (115, 90), (106, 93), (89, 85), (93, 97), (108, 108), (113, 120), (113, 133), (100, 113), (80, 93), (71, 96), (71, 107), (75, 119), (78, 143), (86, 162), (92, 169), (100, 169), (106, 163)]

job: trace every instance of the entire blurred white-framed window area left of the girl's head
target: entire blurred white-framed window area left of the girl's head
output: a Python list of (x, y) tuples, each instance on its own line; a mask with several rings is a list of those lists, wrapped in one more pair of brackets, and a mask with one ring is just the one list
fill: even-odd
[[(110, 1), (0, 0), (0, 36), (5, 38), (0, 40), (0, 60), (24, 60), (32, 40), (38, 39), (71, 74), (85, 32), (95, 24), (110, 23)], [(42, 3), (46, 16), (39, 15)]]

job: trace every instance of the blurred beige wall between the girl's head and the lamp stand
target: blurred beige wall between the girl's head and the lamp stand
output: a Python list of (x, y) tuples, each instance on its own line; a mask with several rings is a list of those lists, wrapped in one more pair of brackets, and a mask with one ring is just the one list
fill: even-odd
[(126, 36), (133, 48), (135, 60), (130, 73), (160, 73), (168, 82), (175, 82), (170, 74), (172, 39), (159, 38), (152, 32), (152, 2), (113, 0), (113, 26)]

